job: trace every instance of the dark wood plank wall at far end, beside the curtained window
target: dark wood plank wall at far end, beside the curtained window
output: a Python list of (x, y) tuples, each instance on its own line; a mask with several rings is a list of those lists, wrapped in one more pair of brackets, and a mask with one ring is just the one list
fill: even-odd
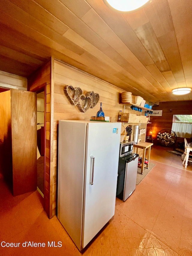
[(165, 101), (160, 102), (159, 106), (154, 106), (152, 109), (163, 110), (162, 116), (150, 116), (150, 122), (152, 123), (147, 125), (146, 135), (149, 136), (149, 132), (153, 128), (153, 137), (155, 137), (157, 143), (158, 132), (172, 128), (173, 115), (192, 115), (192, 101)]

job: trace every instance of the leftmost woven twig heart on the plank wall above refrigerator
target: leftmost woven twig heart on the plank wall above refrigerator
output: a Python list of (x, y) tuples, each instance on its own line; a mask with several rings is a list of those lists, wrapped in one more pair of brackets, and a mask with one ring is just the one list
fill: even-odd
[(83, 95), (83, 91), (80, 87), (74, 88), (72, 85), (67, 85), (64, 88), (64, 92), (70, 103), (75, 106), (79, 103), (79, 99)]

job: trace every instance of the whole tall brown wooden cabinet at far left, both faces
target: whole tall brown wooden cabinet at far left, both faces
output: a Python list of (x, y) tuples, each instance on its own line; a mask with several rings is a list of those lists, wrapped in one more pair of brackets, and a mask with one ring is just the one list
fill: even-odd
[(37, 189), (36, 93), (11, 89), (0, 93), (1, 173), (13, 195)]

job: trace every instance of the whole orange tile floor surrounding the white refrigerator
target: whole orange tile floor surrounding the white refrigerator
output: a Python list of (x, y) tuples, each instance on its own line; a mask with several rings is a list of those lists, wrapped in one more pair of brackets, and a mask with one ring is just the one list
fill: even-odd
[[(83, 256), (192, 255), (192, 172), (153, 162), (134, 193), (125, 202), (116, 199), (115, 216)], [(2, 241), (20, 244), (2, 247)], [(45, 247), (22, 247), (29, 241)], [(52, 241), (62, 246), (48, 247)], [(38, 191), (13, 197), (1, 177), (0, 255), (81, 254), (57, 217), (47, 218)]]

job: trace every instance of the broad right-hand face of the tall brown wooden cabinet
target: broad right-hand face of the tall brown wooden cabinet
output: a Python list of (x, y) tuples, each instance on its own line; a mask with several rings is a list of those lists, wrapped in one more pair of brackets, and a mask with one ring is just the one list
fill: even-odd
[(11, 89), (13, 195), (37, 189), (37, 99)]

